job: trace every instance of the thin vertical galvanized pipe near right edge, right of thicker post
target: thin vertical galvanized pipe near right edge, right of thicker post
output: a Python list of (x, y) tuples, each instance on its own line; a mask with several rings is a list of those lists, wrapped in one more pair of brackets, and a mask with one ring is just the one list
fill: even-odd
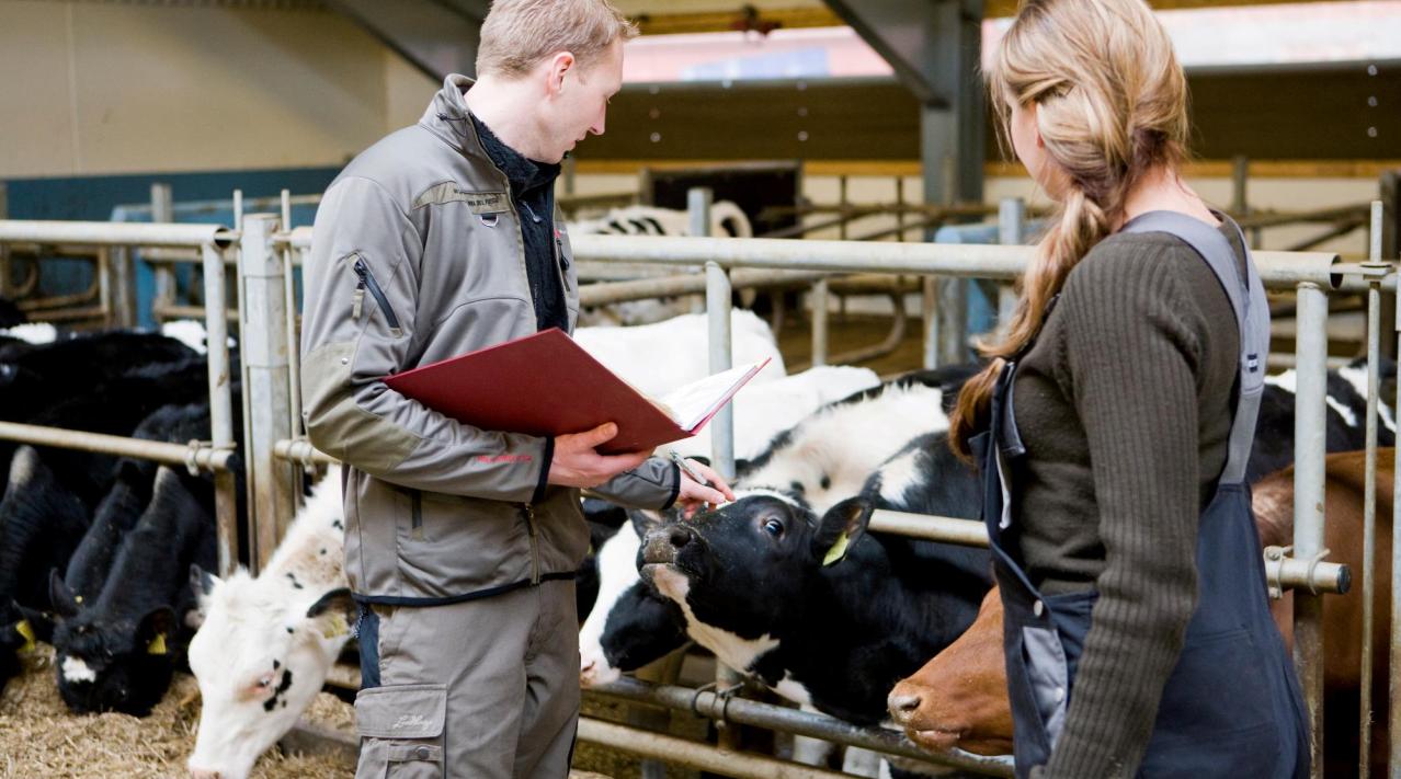
[[(1384, 272), (1381, 262), (1381, 202), (1372, 203), (1370, 263)], [(1367, 779), (1372, 772), (1372, 619), (1376, 598), (1377, 558), (1377, 397), (1381, 392), (1379, 361), (1381, 359), (1381, 289), (1373, 279), (1367, 290), (1367, 426), (1366, 465), (1362, 497), (1362, 680), (1359, 702), (1358, 776)]]

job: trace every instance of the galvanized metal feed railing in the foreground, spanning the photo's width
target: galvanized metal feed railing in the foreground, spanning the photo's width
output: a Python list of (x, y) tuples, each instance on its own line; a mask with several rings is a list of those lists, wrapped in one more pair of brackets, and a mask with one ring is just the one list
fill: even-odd
[[(1379, 231), (1374, 231), (1379, 233)], [(279, 230), (276, 216), (248, 216), (244, 219), (242, 231), (230, 231), (217, 226), (198, 224), (109, 224), (109, 223), (45, 223), (45, 221), (0, 221), (0, 245), (15, 242), (29, 244), (64, 244), (87, 247), (113, 248), (198, 248), (205, 269), (205, 315), (209, 329), (209, 371), (210, 371), (210, 401), (213, 418), (212, 453), (203, 461), (195, 455), (196, 464), (214, 468), (219, 474), (216, 488), (219, 490), (220, 517), (220, 566), (227, 572), (227, 566), (237, 559), (237, 549), (233, 539), (237, 538), (233, 527), (233, 478), (227, 472), (228, 453), (233, 451), (234, 433), (231, 430), (230, 409), (230, 381), (228, 381), (228, 352), (226, 326), (226, 297), (224, 297), (224, 256), (223, 249), (237, 244), (240, 255), (240, 305), (242, 328), (242, 359), (244, 359), (244, 394), (248, 398), (248, 430), (245, 432), (247, 469), (249, 481), (251, 521), (254, 532), (251, 538), (256, 545), (259, 556), (270, 553), (280, 530), (290, 518), (290, 506), (296, 475), (291, 471), (293, 462), (325, 462), (326, 455), (298, 437), (300, 420), (294, 405), (298, 397), (296, 381), (297, 354), (297, 322), (294, 290), (291, 287), (291, 270), (300, 262), (301, 254), (310, 248), (311, 231), (297, 228), (291, 231)], [(712, 318), (712, 366), (720, 367), (729, 360), (726, 338), (730, 322), (730, 289), (744, 273), (785, 273), (787, 279), (803, 275), (803, 282), (821, 280), (829, 275), (845, 273), (902, 273), (913, 276), (941, 276), (955, 279), (996, 279), (1010, 280), (1016, 277), (1031, 259), (1034, 249), (1020, 245), (968, 245), (968, 244), (902, 244), (902, 242), (842, 242), (842, 241), (786, 241), (764, 238), (657, 238), (657, 237), (608, 237), (608, 235), (580, 235), (573, 240), (574, 254), (581, 262), (588, 263), (633, 263), (661, 268), (700, 266), (705, 268), (705, 290), (708, 297), (708, 314)], [(1324, 552), (1324, 517), (1323, 517), (1323, 488), (1324, 488), (1324, 432), (1325, 432), (1325, 380), (1327, 380), (1327, 315), (1328, 294), (1331, 291), (1362, 291), (1367, 293), (1373, 305), (1380, 301), (1381, 293), (1394, 293), (1397, 286), (1395, 268), (1391, 263), (1372, 262), (1363, 265), (1344, 265), (1332, 254), (1327, 252), (1268, 252), (1255, 254), (1257, 263), (1265, 284), (1271, 289), (1290, 289), (1299, 296), (1299, 329), (1296, 342), (1297, 363), (1297, 395), (1296, 395), (1296, 465), (1295, 465), (1295, 548), (1292, 556), (1279, 556), (1274, 560), (1271, 576), (1283, 584), (1295, 586), (1296, 597), (1296, 659), (1300, 664), (1300, 678), (1304, 684), (1310, 715), (1314, 724), (1316, 740), (1321, 738), (1321, 699), (1323, 699), (1323, 632), (1321, 622), (1321, 594), (1338, 591), (1345, 587), (1346, 576), (1332, 563), (1318, 563)], [(1376, 259), (1376, 258), (1374, 258)], [(633, 283), (633, 282), (626, 282)], [(675, 283), (675, 282), (668, 282)], [(618, 290), (608, 290), (607, 284), (595, 293), (600, 298), (618, 294)], [(688, 287), (693, 289), (693, 287)], [(640, 294), (647, 289), (635, 287), (628, 294)], [(825, 307), (821, 307), (825, 312)], [(815, 312), (817, 310), (814, 310)], [(1379, 318), (1372, 317), (1372, 331), (1379, 331)], [(1398, 322), (1401, 325), (1401, 322)], [(814, 326), (814, 332), (817, 328)], [(1374, 339), (1369, 340), (1369, 387), (1376, 387), (1376, 371), (1379, 354)], [(1369, 406), (1376, 408), (1376, 394), (1372, 392)], [(1398, 409), (1401, 411), (1401, 409)], [(1370, 420), (1370, 416), (1369, 416)], [(733, 420), (717, 418), (713, 440), (717, 451), (716, 462), (724, 467), (733, 455)], [(1374, 448), (1374, 430), (1369, 432), (1369, 446)], [(56, 433), (42, 430), (28, 430), (22, 427), (0, 427), (0, 437), (11, 440), (32, 440), (41, 443), (55, 441), (45, 439)], [(108, 447), (99, 451), (113, 451), (126, 454), (136, 451), (129, 444), (76, 434), (73, 441), (83, 441), (81, 446)], [(729, 441), (729, 446), (727, 446)], [(53, 446), (67, 446), (57, 444)], [(74, 444), (76, 446), (76, 444)], [(184, 447), (179, 447), (184, 450)], [(188, 457), (184, 451), (147, 450), (156, 458)], [(1374, 492), (1374, 462), (1369, 458), (1369, 472), (1373, 486), (1369, 489), (1369, 504)], [(1373, 510), (1374, 511), (1374, 510)], [(1369, 520), (1369, 528), (1374, 523), (1374, 516)], [(925, 517), (916, 514), (899, 514), (880, 511), (873, 517), (871, 528), (884, 532), (901, 532), (920, 538), (958, 544), (986, 544), (985, 532), (978, 523), (967, 520), (953, 520), (944, 517)], [(1373, 530), (1367, 530), (1369, 552), (1363, 572), (1363, 590), (1370, 595), (1374, 581), (1370, 580), (1372, 560), (1374, 555)], [(1401, 538), (1393, 535), (1397, 559), (1401, 559)], [(1393, 572), (1393, 587), (1397, 573)], [(1401, 611), (1401, 604), (1393, 600), (1393, 608)], [(1370, 625), (1370, 619), (1367, 621)], [(1401, 668), (1401, 614), (1393, 614), (1393, 670)], [(1370, 644), (1365, 644), (1369, 652)], [(1369, 664), (1365, 659), (1365, 666)], [(1393, 673), (1393, 685), (1397, 680)], [(628, 695), (639, 694), (639, 688), (629, 688)], [(1394, 688), (1395, 689), (1395, 688)], [(619, 688), (608, 688), (605, 692), (622, 695)], [(654, 688), (647, 692), (656, 701), (665, 695), (672, 695), (670, 688)], [(686, 695), (703, 695), (698, 691), (686, 691)], [(640, 695), (640, 694), (639, 694)], [(700, 698), (691, 698), (699, 701)], [(1397, 715), (1397, 705), (1401, 695), (1393, 692), (1391, 708)], [(772, 719), (780, 730), (803, 733), (803, 729), (813, 723), (787, 719), (787, 715), (778, 717), (773, 712), (750, 709), (752, 702), (731, 701), (729, 709), (722, 709), (723, 716), (730, 716), (738, 722), (736, 712), (747, 710), (755, 717)], [(757, 703), (754, 703), (758, 706)], [(736, 708), (738, 706), (738, 708)], [(1363, 703), (1367, 706), (1367, 702)], [(710, 708), (713, 709), (713, 706)], [(713, 712), (712, 712), (713, 713)], [(793, 712), (792, 715), (800, 715)], [(747, 716), (747, 715), (745, 715)], [(782, 722), (779, 722), (782, 720)], [(1369, 716), (1363, 717), (1367, 722)], [(766, 720), (769, 722), (769, 720)], [(1398, 722), (1393, 719), (1393, 722)], [(899, 736), (890, 731), (843, 731), (832, 734), (839, 743), (857, 747), (871, 745), (871, 740), (891, 751), (902, 754), (905, 750), (915, 750), (916, 755), (933, 762), (944, 762), (944, 757), (927, 757), (918, 751), (908, 741), (901, 741)], [(612, 731), (609, 731), (612, 733)], [(642, 737), (639, 737), (642, 738)], [(895, 738), (895, 741), (888, 741)], [(1398, 759), (1398, 738), (1401, 729), (1393, 729), (1393, 762), (1401, 765)], [(883, 741), (887, 740), (887, 741)], [(1318, 741), (1316, 741), (1316, 747)], [(911, 757), (911, 755), (902, 755)], [(1316, 750), (1316, 761), (1321, 761), (1321, 750)], [(758, 771), (758, 769), (755, 769)], [(768, 771), (768, 769), (764, 769)], [(992, 766), (993, 772), (1003, 768)], [(736, 773), (737, 776), (758, 776), (769, 773)]]

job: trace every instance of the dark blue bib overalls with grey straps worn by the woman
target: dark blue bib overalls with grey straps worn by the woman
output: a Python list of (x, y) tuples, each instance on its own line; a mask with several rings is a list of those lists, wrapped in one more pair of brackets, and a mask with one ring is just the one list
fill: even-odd
[[(1293, 663), (1269, 616), (1259, 537), (1244, 483), (1269, 350), (1265, 290), (1252, 261), (1247, 256), (1247, 279), (1241, 279), (1229, 241), (1199, 220), (1152, 212), (1129, 221), (1124, 231), (1168, 233), (1202, 255), (1230, 297), (1241, 343), (1229, 455), (1196, 532), (1201, 600), (1136, 775), (1303, 778), (1309, 775), (1309, 724)], [(982, 468), (984, 521), (1006, 611), (1013, 752), (1017, 776), (1026, 778), (1051, 758), (1065, 727), (1098, 593), (1042, 597), (1021, 566), (1006, 481), (1010, 464), (1026, 457), (1013, 415), (1017, 359), (1020, 354), (998, 377), (991, 429), (971, 443)]]

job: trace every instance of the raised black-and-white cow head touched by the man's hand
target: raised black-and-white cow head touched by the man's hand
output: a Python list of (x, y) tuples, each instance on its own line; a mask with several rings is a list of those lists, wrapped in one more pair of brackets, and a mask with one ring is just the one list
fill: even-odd
[(639, 565), (643, 579), (681, 607), (692, 637), (744, 670), (776, 646), (782, 625), (801, 619), (808, 593), (857, 549), (869, 518), (860, 499), (818, 517), (799, 497), (754, 490), (647, 532)]

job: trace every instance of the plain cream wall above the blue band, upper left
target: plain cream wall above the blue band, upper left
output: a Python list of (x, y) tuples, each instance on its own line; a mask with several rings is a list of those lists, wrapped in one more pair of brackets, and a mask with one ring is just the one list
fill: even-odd
[(0, 0), (0, 178), (338, 165), (403, 113), (391, 57), (332, 13)]

